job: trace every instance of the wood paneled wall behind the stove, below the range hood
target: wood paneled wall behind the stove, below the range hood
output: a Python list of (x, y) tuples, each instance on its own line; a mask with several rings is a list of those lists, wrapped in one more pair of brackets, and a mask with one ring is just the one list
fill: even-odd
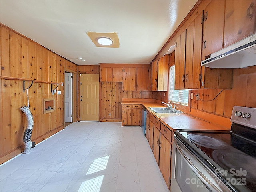
[(204, 112), (216, 115), (231, 117), (233, 106), (246, 106), (256, 108), (256, 66), (242, 69), (233, 69), (233, 85), (230, 90), (223, 90), (219, 96), (212, 100), (221, 89), (192, 90), (193, 93), (199, 93), (202, 100), (191, 101), (191, 107)]

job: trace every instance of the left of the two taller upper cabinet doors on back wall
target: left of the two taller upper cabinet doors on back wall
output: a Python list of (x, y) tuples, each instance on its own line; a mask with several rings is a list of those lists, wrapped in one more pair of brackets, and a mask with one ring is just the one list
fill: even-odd
[(136, 83), (136, 68), (124, 68), (124, 81), (123, 90), (124, 91), (135, 91)]

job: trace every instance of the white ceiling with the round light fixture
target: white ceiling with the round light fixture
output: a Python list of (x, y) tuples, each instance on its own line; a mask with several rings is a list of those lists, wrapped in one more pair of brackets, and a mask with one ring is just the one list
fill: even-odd
[[(0, 22), (76, 64), (149, 64), (196, 2), (0, 0)], [(96, 47), (88, 31), (116, 32), (120, 47)]]

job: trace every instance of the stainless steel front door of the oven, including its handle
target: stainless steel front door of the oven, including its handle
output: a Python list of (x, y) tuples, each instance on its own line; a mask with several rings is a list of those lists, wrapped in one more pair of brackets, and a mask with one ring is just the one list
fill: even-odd
[(171, 192), (231, 192), (178, 138), (174, 138)]

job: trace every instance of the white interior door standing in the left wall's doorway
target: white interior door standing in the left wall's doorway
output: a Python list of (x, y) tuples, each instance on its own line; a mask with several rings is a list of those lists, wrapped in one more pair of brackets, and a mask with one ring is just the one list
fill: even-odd
[(65, 122), (72, 122), (72, 73), (65, 73)]

